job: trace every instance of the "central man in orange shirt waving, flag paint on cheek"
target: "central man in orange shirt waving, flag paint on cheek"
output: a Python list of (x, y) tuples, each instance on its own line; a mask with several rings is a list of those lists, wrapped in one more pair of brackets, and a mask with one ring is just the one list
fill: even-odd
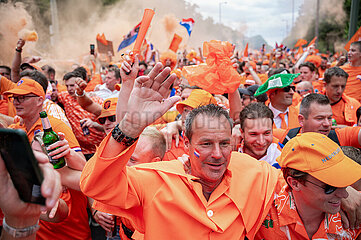
[(188, 114), (186, 169), (177, 160), (126, 167), (137, 136), (179, 99), (164, 99), (176, 76), (167, 78), (170, 68), (162, 69), (157, 63), (136, 79), (128, 112), (82, 172), (82, 191), (108, 204), (95, 204), (96, 209), (132, 219), (145, 239), (253, 239), (279, 171), (231, 154), (232, 124), (221, 107), (211, 104)]

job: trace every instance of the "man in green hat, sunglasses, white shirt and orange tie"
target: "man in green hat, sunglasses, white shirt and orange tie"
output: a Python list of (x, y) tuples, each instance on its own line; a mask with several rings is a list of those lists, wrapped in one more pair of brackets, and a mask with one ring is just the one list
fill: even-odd
[(254, 94), (255, 97), (267, 93), (270, 104), (268, 107), (274, 114), (273, 128), (294, 128), (298, 127), (298, 109), (292, 106), (292, 98), (295, 93), (295, 86), (291, 85), (293, 79), (299, 74), (275, 74), (262, 84)]

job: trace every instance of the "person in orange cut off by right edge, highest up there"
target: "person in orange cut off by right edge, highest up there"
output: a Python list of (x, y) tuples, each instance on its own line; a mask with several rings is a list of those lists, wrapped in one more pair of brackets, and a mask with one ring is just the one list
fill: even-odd
[(345, 93), (361, 102), (361, 41), (351, 43), (347, 57), (348, 64), (341, 67), (349, 75)]

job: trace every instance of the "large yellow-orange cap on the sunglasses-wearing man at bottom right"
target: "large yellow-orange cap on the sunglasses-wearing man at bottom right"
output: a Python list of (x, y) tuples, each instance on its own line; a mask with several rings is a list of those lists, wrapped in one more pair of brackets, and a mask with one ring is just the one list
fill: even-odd
[(334, 187), (347, 187), (361, 178), (361, 165), (348, 158), (339, 145), (320, 133), (302, 133), (292, 138), (277, 161), (282, 168), (306, 172)]

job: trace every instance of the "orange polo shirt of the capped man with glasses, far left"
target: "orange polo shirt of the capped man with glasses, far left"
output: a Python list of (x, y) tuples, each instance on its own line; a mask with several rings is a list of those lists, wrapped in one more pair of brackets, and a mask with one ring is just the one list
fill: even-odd
[[(54, 130), (54, 132), (64, 133), (65, 139), (69, 142), (69, 147), (71, 149), (74, 149), (75, 151), (80, 151), (79, 143), (76, 140), (70, 127), (68, 125), (66, 125), (63, 121), (61, 121), (57, 118), (54, 118), (52, 116), (48, 116), (48, 118), (49, 118), (49, 121), (51, 124), (51, 128)], [(30, 142), (33, 141), (35, 131), (38, 131), (38, 130), (43, 131), (43, 125), (41, 123), (40, 117), (39, 117), (38, 121), (36, 121), (35, 124), (30, 128), (29, 131), (26, 131), (25, 125), (20, 125), (20, 123), (11, 124), (9, 126), (9, 128), (24, 130), (26, 132), (26, 134), (28, 135), (28, 139)]]

